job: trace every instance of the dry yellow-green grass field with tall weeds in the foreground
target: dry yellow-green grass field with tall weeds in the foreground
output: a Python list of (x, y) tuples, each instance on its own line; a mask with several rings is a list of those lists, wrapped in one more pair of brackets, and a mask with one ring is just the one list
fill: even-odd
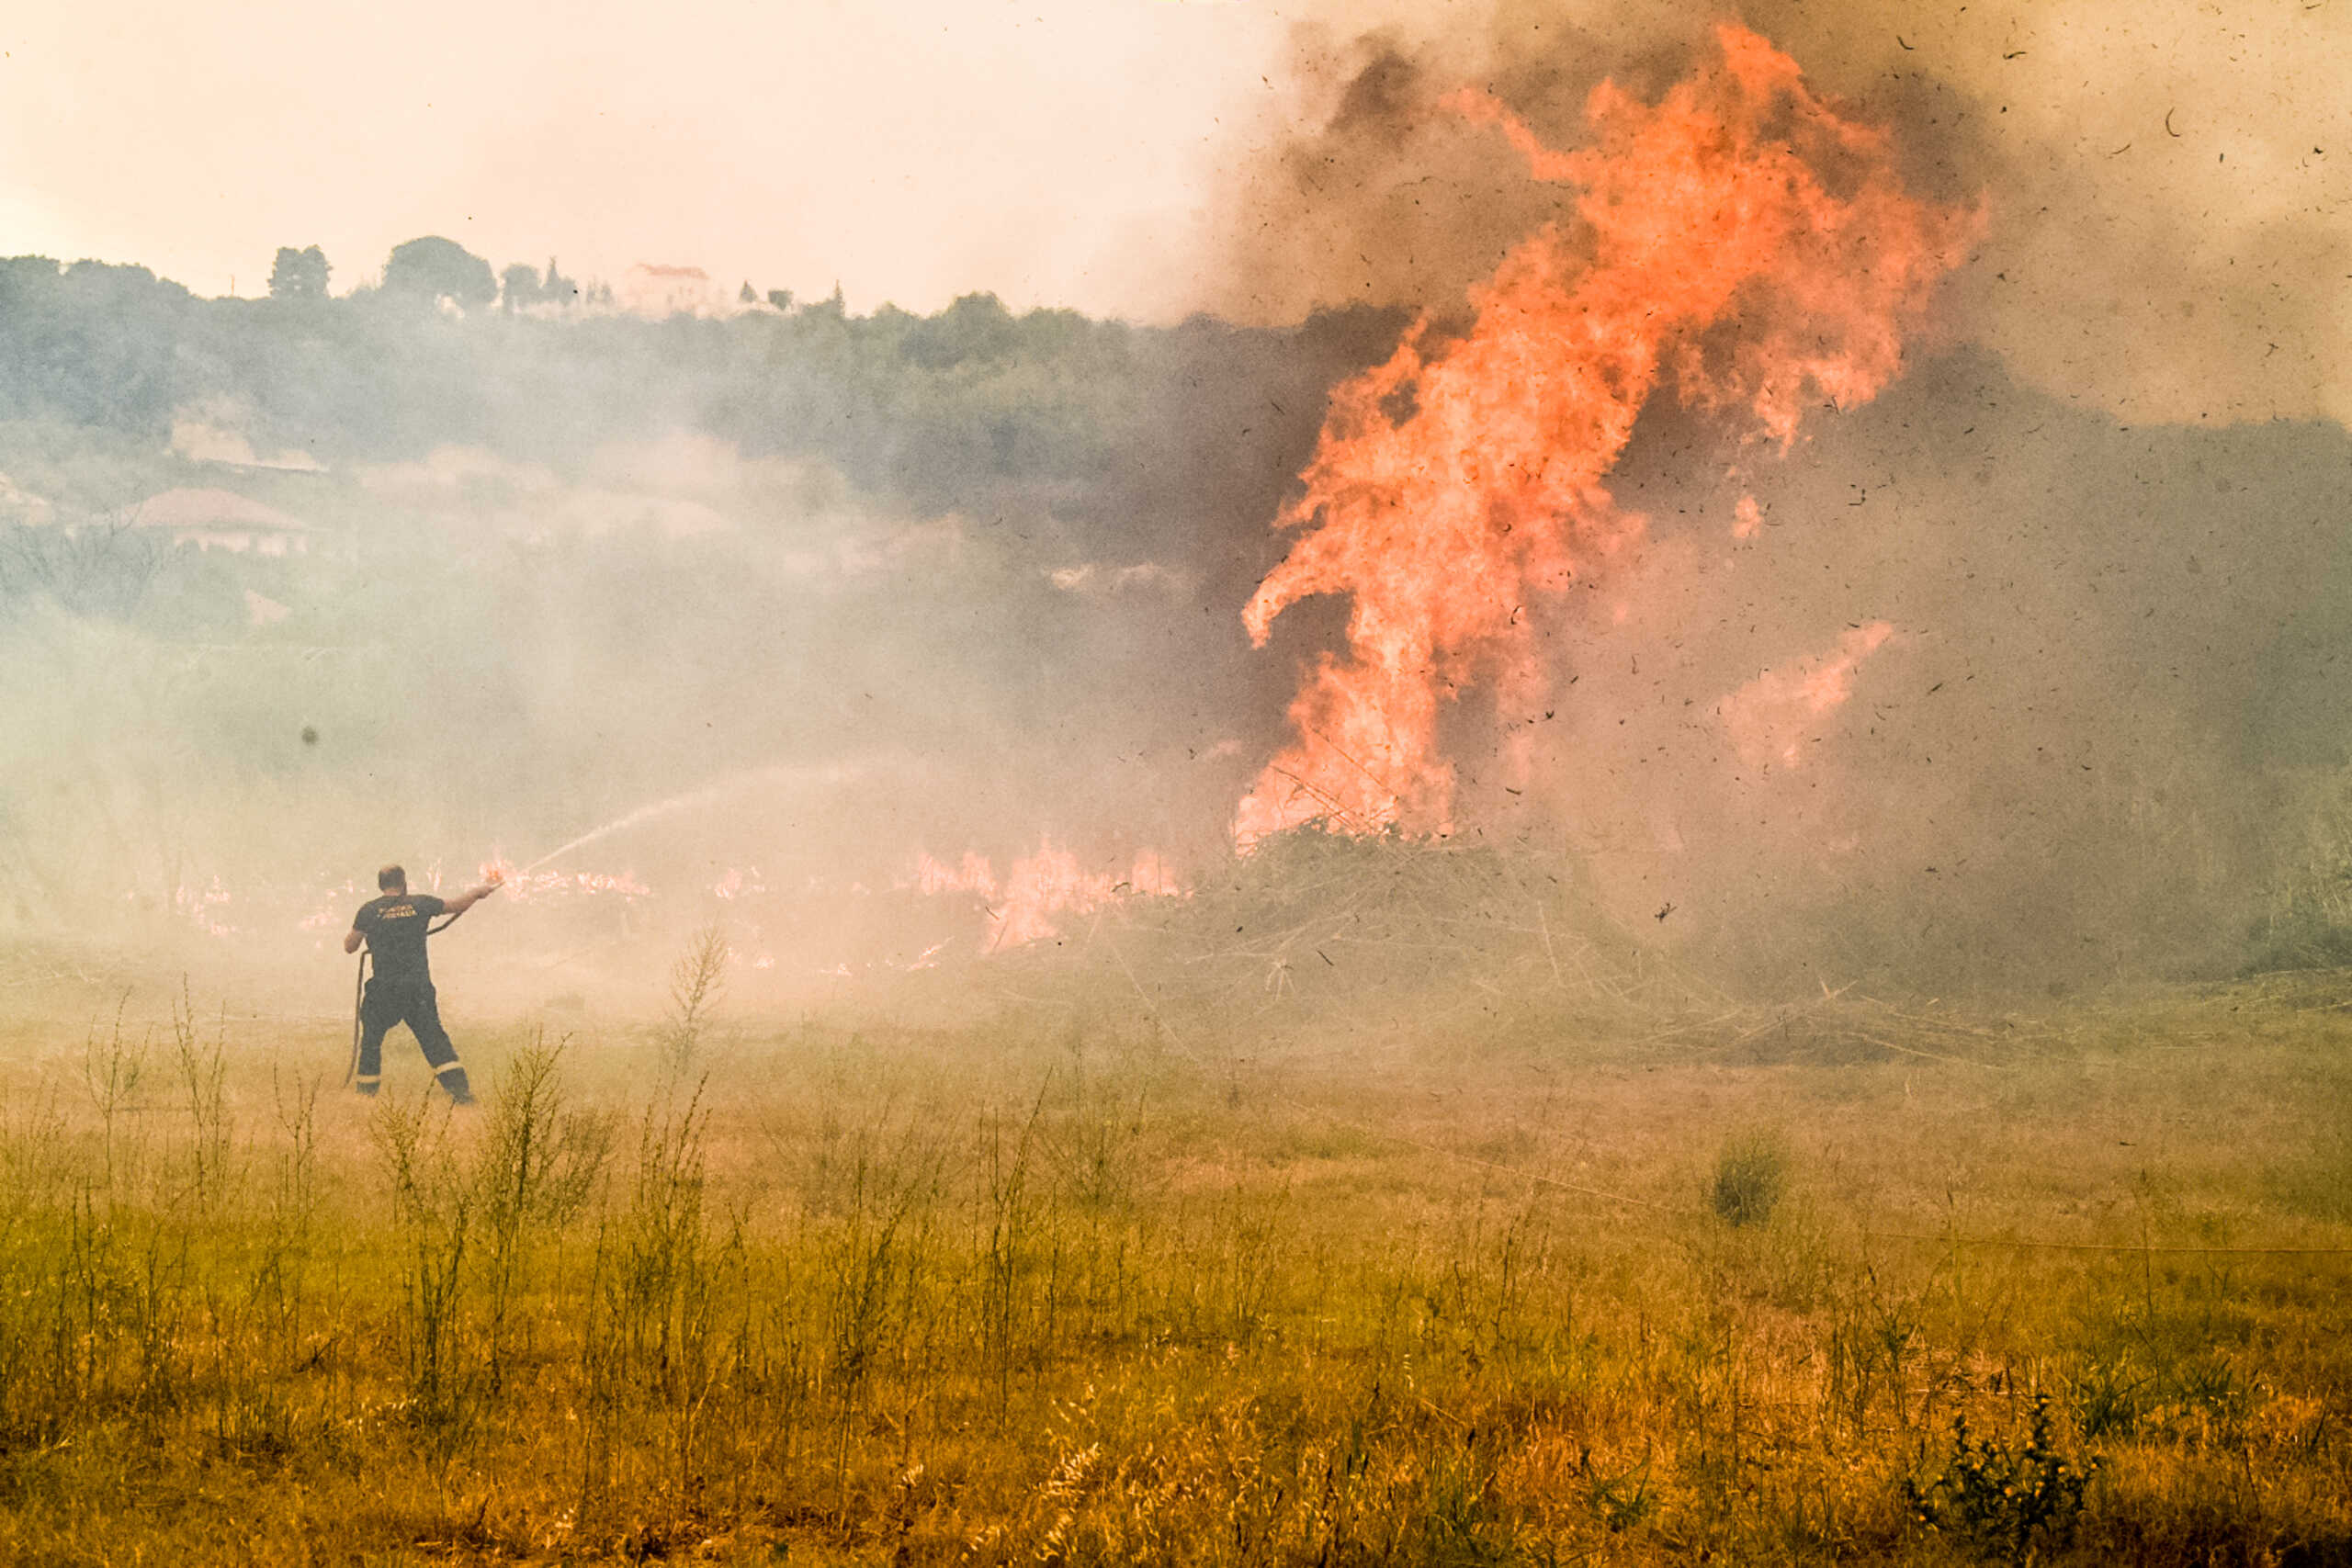
[(452, 1001), (454, 1114), (405, 1034), (369, 1105), (334, 1020), (16, 994), (0, 1559), (2352, 1561), (2352, 983)]

